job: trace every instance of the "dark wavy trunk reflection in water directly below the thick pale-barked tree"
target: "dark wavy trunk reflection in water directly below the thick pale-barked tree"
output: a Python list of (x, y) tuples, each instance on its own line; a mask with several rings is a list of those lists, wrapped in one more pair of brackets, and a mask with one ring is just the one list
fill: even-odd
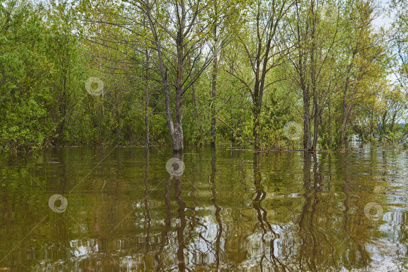
[(178, 270), (179, 271), (185, 271), (185, 263), (184, 263), (184, 229), (186, 226), (186, 219), (185, 219), (185, 202), (181, 200), (181, 180), (179, 177), (175, 178), (175, 183), (174, 183), (174, 198), (176, 199), (176, 202), (179, 206), (178, 209), (178, 215), (180, 219), (180, 227), (177, 228), (177, 242), (178, 242), (178, 248), (177, 248), (177, 259), (178, 259)]

